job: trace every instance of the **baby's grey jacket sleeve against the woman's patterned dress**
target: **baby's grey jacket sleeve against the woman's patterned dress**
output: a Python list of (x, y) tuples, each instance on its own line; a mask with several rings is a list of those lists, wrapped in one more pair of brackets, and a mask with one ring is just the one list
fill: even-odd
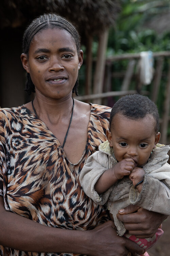
[(95, 190), (95, 184), (100, 176), (108, 170), (108, 157), (100, 151), (96, 151), (89, 156), (86, 164), (81, 170), (79, 180), (85, 194), (90, 197), (95, 203), (103, 205), (108, 200), (108, 197), (113, 189), (110, 187), (103, 194), (99, 195)]

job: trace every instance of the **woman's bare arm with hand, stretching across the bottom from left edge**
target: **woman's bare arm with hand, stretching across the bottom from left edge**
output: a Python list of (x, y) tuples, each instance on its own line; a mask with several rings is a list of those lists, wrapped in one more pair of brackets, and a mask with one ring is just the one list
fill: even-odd
[(0, 244), (28, 252), (64, 252), (94, 256), (122, 256), (142, 249), (117, 236), (112, 221), (89, 231), (53, 228), (5, 211), (0, 196)]

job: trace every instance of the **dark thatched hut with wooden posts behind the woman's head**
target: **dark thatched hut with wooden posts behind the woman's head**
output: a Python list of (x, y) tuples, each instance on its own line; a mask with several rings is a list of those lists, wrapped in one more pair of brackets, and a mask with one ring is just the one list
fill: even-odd
[[(24, 91), (25, 72), (20, 61), (24, 28), (36, 16), (55, 12), (75, 24), (86, 47), (85, 94), (101, 93), (104, 79), (108, 28), (120, 11), (118, 0), (6, 0), (1, 3), (0, 105), (12, 107), (31, 98)], [(92, 42), (98, 37), (97, 65), (92, 85)], [(92, 90), (93, 88), (93, 90)], [(100, 103), (100, 99), (98, 99)]]

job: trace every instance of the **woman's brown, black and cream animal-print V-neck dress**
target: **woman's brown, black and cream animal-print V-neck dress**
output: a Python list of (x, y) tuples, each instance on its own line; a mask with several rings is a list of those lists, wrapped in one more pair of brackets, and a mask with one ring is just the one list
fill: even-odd
[[(24, 106), (0, 110), (0, 196), (7, 211), (43, 225), (93, 229), (107, 220), (104, 208), (79, 183), (86, 159), (106, 140), (111, 109), (91, 104), (86, 148), (72, 164), (47, 126)], [(99, 138), (100, 137), (100, 138)], [(29, 253), (0, 246), (5, 256), (70, 256)]]

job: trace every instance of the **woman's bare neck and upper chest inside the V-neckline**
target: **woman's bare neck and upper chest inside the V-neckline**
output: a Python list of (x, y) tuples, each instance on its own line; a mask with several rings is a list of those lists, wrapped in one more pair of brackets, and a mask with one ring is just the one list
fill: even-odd
[[(64, 146), (64, 152), (72, 163), (80, 160), (86, 147), (91, 110), (91, 105), (87, 103), (78, 100), (74, 100), (74, 103), (72, 122)], [(67, 99), (52, 102), (35, 97), (33, 104), (38, 118), (46, 124), (60, 144), (63, 145), (72, 113), (73, 100), (71, 95)], [(31, 102), (25, 106), (33, 111)]]

